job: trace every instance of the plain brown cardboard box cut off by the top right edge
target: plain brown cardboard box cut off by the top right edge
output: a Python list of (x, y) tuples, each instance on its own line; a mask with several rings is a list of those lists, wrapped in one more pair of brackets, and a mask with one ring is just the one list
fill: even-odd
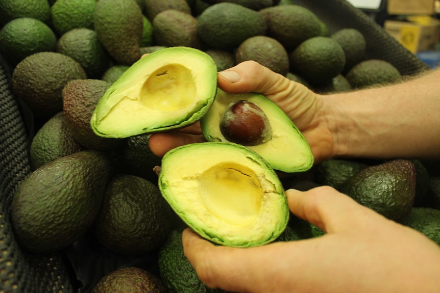
[(388, 14), (397, 15), (432, 15), (434, 14), (435, 0), (388, 0)]

